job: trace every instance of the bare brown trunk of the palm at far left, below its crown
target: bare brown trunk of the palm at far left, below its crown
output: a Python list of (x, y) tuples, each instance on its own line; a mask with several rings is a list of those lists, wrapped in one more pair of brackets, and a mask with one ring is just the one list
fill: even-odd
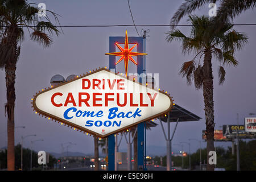
[(7, 113), (7, 169), (15, 170), (14, 154), (14, 106), (15, 106), (15, 63), (6, 64), (6, 97), (5, 112)]

